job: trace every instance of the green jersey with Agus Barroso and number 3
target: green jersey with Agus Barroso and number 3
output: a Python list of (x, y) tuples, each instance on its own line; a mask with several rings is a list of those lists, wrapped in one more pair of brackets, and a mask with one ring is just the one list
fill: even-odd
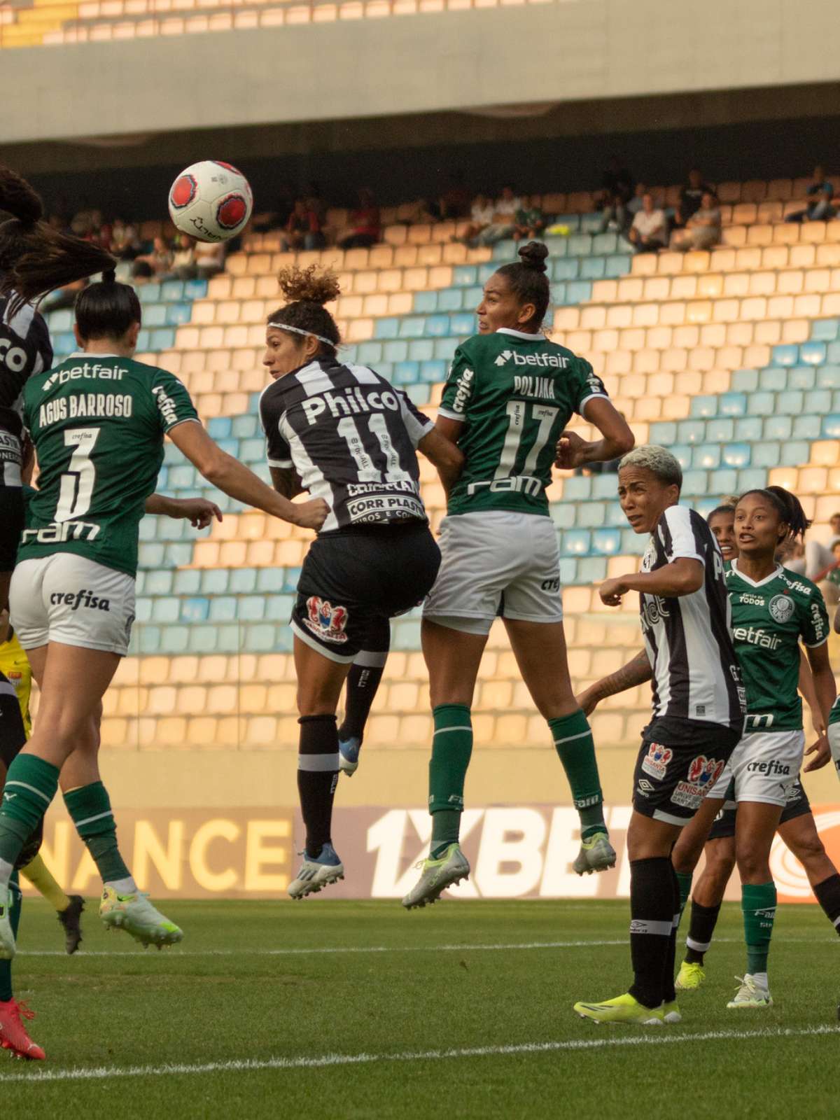
[(24, 424), (38, 489), (18, 560), (74, 552), (137, 575), (140, 519), (164, 463), (164, 435), (198, 420), (166, 370), (108, 354), (74, 354), (30, 377)]

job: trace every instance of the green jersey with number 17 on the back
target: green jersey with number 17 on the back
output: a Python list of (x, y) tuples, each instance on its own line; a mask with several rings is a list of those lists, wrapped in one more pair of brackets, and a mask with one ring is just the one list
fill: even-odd
[(448, 512), (548, 515), (545, 487), (560, 433), (587, 401), (607, 396), (591, 365), (544, 335), (503, 328), (455, 352), (438, 412), (464, 421), (466, 457)]

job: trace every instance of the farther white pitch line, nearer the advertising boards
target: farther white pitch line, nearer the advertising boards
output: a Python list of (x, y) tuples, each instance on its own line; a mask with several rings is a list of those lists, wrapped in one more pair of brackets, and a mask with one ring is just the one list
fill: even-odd
[[(834, 944), (836, 937), (774, 937), (773, 944)], [(716, 937), (716, 945), (740, 945), (743, 937)], [(167, 956), (330, 956), (358, 953), (480, 953), (521, 952), (533, 949), (597, 949), (606, 945), (626, 945), (627, 937), (610, 941), (522, 941), (502, 945), (326, 945), (302, 949), (175, 949), (168, 948)], [(66, 956), (58, 949), (21, 949), (18, 956)], [(139, 956), (138, 950), (80, 949), (76, 960), (87, 956)], [(156, 959), (156, 954), (149, 954)]]

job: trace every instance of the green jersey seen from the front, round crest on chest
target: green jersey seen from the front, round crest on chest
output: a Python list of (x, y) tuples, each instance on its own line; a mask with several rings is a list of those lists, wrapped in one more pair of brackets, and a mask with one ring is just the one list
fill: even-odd
[(815, 584), (781, 564), (754, 584), (737, 563), (729, 566), (726, 586), (735, 653), (747, 690), (747, 730), (799, 730), (800, 641), (808, 646), (828, 641), (825, 603)]

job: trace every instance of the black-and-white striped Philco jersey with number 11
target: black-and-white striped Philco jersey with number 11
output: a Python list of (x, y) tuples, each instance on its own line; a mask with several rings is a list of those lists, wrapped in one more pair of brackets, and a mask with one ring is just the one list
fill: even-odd
[(263, 390), (260, 419), (269, 466), (329, 505), (321, 532), (426, 521), (416, 448), (432, 422), (373, 370), (310, 362)]

